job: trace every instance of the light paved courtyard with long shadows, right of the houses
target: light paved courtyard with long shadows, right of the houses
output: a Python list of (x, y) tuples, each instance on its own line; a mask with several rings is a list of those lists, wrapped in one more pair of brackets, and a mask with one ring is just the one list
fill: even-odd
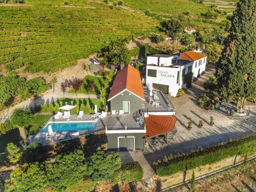
[[(250, 105), (251, 117), (248, 120), (231, 120), (225, 114), (214, 111), (206, 111), (197, 104), (198, 96), (204, 92), (203, 82), (215, 72), (215, 67), (208, 65), (206, 73), (193, 83), (193, 87), (188, 89), (185, 96), (180, 98), (170, 98), (175, 106), (175, 114), (178, 118), (176, 122), (177, 134), (170, 141), (170, 145), (161, 148), (153, 153), (143, 152), (121, 152), (119, 153), (122, 162), (138, 161), (144, 170), (144, 180), (155, 175), (153, 162), (162, 160), (164, 156), (189, 152), (196, 150), (199, 146), (206, 147), (229, 139), (239, 138), (256, 132), (256, 106)], [(248, 106), (246, 106), (248, 108)], [(214, 126), (210, 126), (210, 116), (214, 117)], [(192, 121), (192, 129), (187, 130), (187, 122)], [(203, 120), (204, 125), (198, 128), (198, 121)]]

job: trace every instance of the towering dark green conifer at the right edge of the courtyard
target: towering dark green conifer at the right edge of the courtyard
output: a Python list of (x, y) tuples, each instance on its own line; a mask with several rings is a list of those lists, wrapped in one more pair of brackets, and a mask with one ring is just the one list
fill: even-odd
[(243, 112), (244, 99), (256, 94), (255, 6), (255, 0), (238, 3), (216, 66), (220, 93), (227, 101), (237, 102), (239, 113)]

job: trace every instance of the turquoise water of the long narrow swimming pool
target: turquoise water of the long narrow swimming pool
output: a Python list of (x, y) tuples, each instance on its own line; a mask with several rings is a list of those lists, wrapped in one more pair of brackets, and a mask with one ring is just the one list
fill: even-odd
[(96, 122), (76, 122), (76, 123), (49, 123), (42, 131), (48, 132), (49, 125), (53, 131), (81, 131), (91, 130), (96, 127)]

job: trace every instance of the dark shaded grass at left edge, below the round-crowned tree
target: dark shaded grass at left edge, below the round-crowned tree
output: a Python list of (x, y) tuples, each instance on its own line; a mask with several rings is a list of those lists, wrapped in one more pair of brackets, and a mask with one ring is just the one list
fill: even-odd
[(17, 144), (20, 141), (20, 135), (18, 129), (14, 129), (5, 135), (0, 136), (0, 153), (5, 152), (5, 148), (8, 143), (13, 142)]

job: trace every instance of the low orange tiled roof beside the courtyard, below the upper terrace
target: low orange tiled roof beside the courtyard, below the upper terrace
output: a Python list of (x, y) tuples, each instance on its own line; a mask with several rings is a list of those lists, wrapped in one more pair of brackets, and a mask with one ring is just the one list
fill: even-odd
[(145, 117), (146, 138), (161, 135), (173, 131), (176, 116), (148, 115)]

